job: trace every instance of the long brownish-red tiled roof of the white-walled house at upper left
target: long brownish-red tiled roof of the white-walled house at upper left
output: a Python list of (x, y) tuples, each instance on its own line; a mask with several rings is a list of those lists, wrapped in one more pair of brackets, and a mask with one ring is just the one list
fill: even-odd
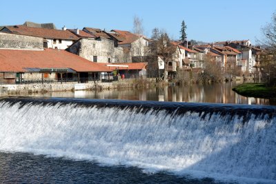
[[(75, 34), (68, 30), (51, 30), (46, 28), (30, 28), (25, 25), (7, 26), (8, 30), (13, 34), (22, 34), (27, 36), (42, 37), (44, 39), (64, 39), (64, 40), (77, 40)], [(3, 32), (3, 31), (2, 31)]]

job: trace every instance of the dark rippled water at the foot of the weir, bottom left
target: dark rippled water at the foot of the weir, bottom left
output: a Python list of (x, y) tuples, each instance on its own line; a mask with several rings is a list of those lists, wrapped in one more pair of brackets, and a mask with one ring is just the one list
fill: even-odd
[(146, 173), (137, 167), (103, 166), (27, 153), (0, 152), (0, 183), (217, 183), (168, 172)]

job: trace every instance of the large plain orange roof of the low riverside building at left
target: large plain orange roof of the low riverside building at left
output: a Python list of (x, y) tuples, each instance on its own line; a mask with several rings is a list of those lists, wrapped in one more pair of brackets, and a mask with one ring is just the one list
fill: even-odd
[(111, 72), (65, 50), (0, 50), (1, 72), (27, 72), (26, 68), (71, 68), (77, 72)]

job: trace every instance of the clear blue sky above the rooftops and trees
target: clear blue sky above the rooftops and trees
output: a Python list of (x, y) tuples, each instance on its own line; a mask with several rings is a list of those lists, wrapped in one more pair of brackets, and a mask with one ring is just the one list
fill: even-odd
[(270, 22), (276, 0), (209, 1), (58, 1), (25, 0), (1, 2), (0, 25), (53, 22), (57, 28), (92, 27), (132, 30), (133, 17), (143, 19), (144, 32), (153, 28), (179, 39), (181, 21), (187, 25), (188, 39), (224, 41), (261, 38), (260, 28)]

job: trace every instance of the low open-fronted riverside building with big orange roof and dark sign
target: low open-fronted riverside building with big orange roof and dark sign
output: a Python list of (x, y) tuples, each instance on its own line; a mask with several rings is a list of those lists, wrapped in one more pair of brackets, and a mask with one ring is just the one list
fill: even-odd
[(108, 67), (65, 50), (0, 49), (0, 83), (88, 83)]

